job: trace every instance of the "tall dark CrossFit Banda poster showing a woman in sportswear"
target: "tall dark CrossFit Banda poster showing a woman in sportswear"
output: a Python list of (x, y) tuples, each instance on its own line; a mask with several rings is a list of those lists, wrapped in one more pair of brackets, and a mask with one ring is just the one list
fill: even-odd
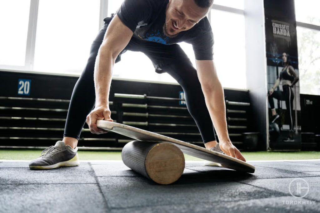
[(300, 82), (294, 0), (265, 0), (271, 150), (300, 150)]

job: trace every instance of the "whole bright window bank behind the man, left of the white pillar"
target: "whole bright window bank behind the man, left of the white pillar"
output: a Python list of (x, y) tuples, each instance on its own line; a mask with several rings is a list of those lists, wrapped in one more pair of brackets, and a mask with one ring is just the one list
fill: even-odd
[[(10, 21), (0, 23), (6, 32), (1, 34), (0, 68), (80, 75), (100, 30), (101, 17), (115, 13), (122, 2), (1, 1), (0, 18)], [(245, 88), (244, 0), (215, 0), (213, 8), (208, 18), (214, 31), (214, 59), (219, 78), (224, 87)], [(184, 42), (179, 45), (196, 66), (192, 45)], [(232, 49), (226, 49), (229, 46)], [(176, 83), (169, 74), (156, 73), (149, 58), (141, 52), (127, 51), (121, 59), (114, 67), (114, 77)]]

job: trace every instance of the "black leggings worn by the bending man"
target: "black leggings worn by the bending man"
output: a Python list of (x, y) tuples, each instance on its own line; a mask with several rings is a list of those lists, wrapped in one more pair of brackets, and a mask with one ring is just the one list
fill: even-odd
[[(86, 116), (94, 108), (94, 64), (99, 47), (111, 18), (105, 19), (104, 27), (99, 31), (93, 41), (87, 65), (73, 89), (64, 137), (79, 139)], [(126, 50), (140, 51), (152, 61), (156, 72), (169, 73), (183, 88), (189, 113), (194, 118), (204, 143), (215, 141), (212, 121), (204, 101), (204, 95), (197, 77), (196, 69), (178, 44), (164, 45), (156, 42), (142, 41), (134, 37), (116, 58), (121, 60), (121, 54)]]

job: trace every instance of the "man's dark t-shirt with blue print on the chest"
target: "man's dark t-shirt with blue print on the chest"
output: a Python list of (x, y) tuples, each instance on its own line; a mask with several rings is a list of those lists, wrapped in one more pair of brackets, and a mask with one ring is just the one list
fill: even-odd
[(169, 0), (124, 0), (116, 14), (132, 30), (135, 38), (170, 45), (192, 44), (197, 60), (213, 59), (213, 34), (207, 17), (194, 27), (169, 38), (163, 33), (165, 11)]

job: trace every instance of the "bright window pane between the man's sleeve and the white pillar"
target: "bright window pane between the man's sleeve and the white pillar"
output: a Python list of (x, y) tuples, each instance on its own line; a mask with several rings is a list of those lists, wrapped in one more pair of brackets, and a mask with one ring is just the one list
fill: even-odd
[(223, 87), (246, 88), (244, 15), (211, 11), (213, 58)]

